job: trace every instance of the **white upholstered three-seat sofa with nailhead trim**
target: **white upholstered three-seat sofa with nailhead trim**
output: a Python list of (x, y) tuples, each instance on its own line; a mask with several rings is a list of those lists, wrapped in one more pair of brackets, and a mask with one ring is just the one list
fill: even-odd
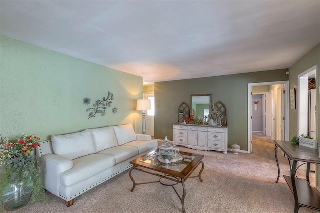
[(129, 169), (132, 159), (156, 149), (158, 143), (124, 124), (53, 135), (40, 144), (36, 155), (44, 188), (71, 206), (74, 198)]

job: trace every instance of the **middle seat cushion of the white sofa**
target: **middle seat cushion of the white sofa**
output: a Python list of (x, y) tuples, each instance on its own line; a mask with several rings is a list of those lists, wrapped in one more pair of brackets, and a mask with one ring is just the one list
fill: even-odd
[(137, 147), (134, 146), (116, 146), (100, 151), (97, 154), (112, 155), (115, 157), (115, 164), (117, 164), (138, 155), (139, 150)]

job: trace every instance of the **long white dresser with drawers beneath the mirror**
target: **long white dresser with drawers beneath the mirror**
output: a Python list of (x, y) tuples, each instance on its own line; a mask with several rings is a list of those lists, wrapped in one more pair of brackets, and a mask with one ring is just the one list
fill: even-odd
[(228, 127), (212, 127), (190, 124), (173, 125), (173, 145), (196, 150), (228, 151)]

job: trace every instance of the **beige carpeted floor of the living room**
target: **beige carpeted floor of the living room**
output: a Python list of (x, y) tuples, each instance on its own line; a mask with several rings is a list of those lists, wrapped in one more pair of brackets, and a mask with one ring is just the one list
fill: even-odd
[[(283, 177), (275, 183), (277, 166), (274, 143), (269, 137), (254, 134), (251, 154), (181, 151), (204, 155), (203, 182), (185, 182), (186, 212), (293, 212), (294, 198)], [(281, 154), (279, 154), (281, 156)], [(281, 175), (289, 175), (288, 161), (280, 157)], [(199, 166), (200, 167), (200, 166)], [(195, 171), (198, 172), (199, 168)], [(298, 176), (304, 173), (298, 172)], [(157, 177), (133, 171), (137, 182), (156, 181)], [(314, 173), (310, 183), (315, 186)], [(77, 197), (73, 206), (50, 193), (50, 202), (28, 203), (16, 212), (182, 212), (181, 202), (171, 187), (159, 183), (137, 185), (133, 192), (128, 172), (124, 172)], [(182, 192), (181, 184), (176, 186)], [(1, 206), (1, 212), (6, 212)], [(319, 212), (301, 207), (299, 212)]]

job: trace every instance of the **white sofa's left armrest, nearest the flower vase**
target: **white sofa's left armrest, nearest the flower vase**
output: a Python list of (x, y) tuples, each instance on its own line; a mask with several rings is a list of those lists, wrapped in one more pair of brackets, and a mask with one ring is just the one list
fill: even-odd
[(59, 196), (60, 174), (73, 167), (72, 160), (56, 154), (45, 154), (38, 158), (42, 166), (42, 184), (46, 190)]

